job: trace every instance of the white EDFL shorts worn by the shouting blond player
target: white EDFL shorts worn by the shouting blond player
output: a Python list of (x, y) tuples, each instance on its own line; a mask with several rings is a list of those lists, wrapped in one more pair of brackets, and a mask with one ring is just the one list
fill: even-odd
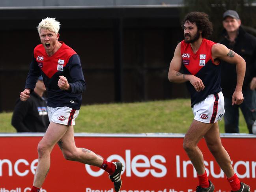
[(79, 110), (69, 107), (47, 107), (49, 121), (63, 125), (75, 125)]

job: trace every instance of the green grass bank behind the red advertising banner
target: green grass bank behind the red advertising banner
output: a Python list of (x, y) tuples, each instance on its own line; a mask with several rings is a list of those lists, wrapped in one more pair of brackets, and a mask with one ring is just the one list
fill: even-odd
[[(11, 126), (12, 113), (0, 113), (0, 132), (16, 132)], [(185, 133), (192, 122), (189, 99), (141, 103), (85, 105), (75, 120), (75, 132), (95, 133)], [(240, 132), (248, 133), (240, 113)], [(224, 133), (224, 120), (219, 122)]]

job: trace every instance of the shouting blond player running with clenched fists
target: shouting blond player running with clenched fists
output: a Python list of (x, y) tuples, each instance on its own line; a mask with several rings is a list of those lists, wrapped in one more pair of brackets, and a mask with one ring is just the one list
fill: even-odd
[(74, 140), (75, 118), (85, 90), (84, 75), (78, 54), (64, 42), (58, 41), (60, 22), (55, 18), (43, 19), (37, 30), (41, 44), (34, 48), (34, 58), (26, 79), (21, 101), (26, 101), (34, 90), (38, 76), (42, 75), (48, 92), (50, 125), (39, 142), (38, 165), (31, 192), (39, 192), (50, 168), (50, 153), (56, 143), (67, 160), (102, 168), (109, 173), (118, 192), (121, 188), (121, 162), (108, 162), (85, 148), (78, 148)]

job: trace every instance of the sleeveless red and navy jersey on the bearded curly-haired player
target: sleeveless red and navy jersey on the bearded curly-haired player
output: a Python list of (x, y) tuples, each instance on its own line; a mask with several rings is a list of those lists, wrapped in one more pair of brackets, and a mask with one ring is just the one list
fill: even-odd
[(215, 64), (211, 56), (211, 48), (215, 43), (203, 39), (200, 48), (196, 53), (193, 52), (190, 43), (181, 41), (181, 56), (183, 73), (194, 75), (204, 83), (204, 90), (197, 92), (188, 81), (187, 88), (191, 94), (191, 107), (194, 104), (203, 101), (210, 94), (219, 93), (220, 88), (220, 63)]

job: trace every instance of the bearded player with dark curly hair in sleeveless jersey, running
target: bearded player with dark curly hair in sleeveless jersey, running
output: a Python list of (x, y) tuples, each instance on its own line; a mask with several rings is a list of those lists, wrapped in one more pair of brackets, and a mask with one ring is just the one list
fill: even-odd
[[(224, 115), (224, 98), (220, 88), (220, 60), (236, 65), (237, 84), (232, 96), (233, 105), (243, 102), (245, 60), (224, 45), (206, 39), (212, 32), (212, 24), (206, 13), (187, 14), (182, 27), (185, 40), (175, 49), (168, 79), (175, 83), (186, 82), (191, 93), (194, 120), (185, 134), (183, 148), (198, 174), (199, 186), (196, 187), (196, 192), (214, 190), (207, 177), (203, 154), (197, 146), (203, 137), (226, 174), (232, 192), (249, 192), (250, 187), (239, 181), (231, 166), (230, 157), (221, 144), (218, 125), (218, 120)], [(183, 74), (179, 73), (181, 67)]]

